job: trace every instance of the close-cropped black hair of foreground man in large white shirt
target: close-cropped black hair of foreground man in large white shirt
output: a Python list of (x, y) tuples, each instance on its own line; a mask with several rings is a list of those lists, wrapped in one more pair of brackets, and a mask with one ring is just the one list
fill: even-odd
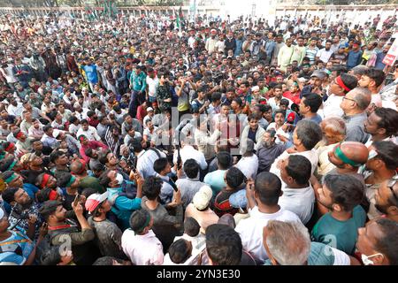
[(256, 176), (255, 191), (261, 203), (277, 205), (282, 192), (282, 183), (277, 175), (261, 172)]

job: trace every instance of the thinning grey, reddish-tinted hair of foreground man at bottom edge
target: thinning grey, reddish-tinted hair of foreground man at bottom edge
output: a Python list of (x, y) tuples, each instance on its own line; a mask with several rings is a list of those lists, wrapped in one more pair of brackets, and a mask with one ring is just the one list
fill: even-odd
[(310, 256), (310, 233), (301, 222), (270, 220), (266, 244), (280, 265), (303, 265)]

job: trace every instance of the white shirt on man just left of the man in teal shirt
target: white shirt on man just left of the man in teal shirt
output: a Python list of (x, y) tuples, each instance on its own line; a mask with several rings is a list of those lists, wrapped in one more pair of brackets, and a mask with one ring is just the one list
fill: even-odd
[(311, 185), (302, 188), (284, 188), (278, 202), (281, 208), (294, 212), (304, 225), (310, 221), (314, 203), (315, 194)]

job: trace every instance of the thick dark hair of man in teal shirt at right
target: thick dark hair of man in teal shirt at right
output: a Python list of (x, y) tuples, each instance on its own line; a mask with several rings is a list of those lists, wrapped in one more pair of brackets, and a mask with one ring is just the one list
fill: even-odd
[(350, 175), (327, 174), (325, 186), (332, 192), (333, 203), (345, 211), (352, 211), (364, 199), (364, 183)]

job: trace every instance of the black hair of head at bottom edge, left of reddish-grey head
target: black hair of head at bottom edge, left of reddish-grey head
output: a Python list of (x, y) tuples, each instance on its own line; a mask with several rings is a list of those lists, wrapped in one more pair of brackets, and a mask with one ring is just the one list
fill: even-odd
[(213, 264), (238, 265), (242, 255), (241, 237), (230, 226), (210, 225), (206, 229), (206, 250)]

